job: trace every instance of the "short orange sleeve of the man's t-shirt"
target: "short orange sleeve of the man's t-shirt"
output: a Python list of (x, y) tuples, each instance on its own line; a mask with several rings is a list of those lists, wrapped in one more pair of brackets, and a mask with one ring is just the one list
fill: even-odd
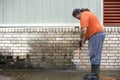
[(80, 24), (81, 24), (81, 28), (89, 27), (89, 15), (87, 15), (86, 13), (81, 15)]

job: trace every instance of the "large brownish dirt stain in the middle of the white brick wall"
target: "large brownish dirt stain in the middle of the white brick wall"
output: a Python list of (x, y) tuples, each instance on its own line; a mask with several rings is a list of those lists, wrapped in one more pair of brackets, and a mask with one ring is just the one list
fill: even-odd
[[(38, 34), (41, 35), (41, 34)], [(72, 62), (73, 52), (77, 49), (78, 40), (56, 38), (56, 34), (45, 34), (42, 37), (30, 39), (27, 43), (30, 63), (33, 68), (42, 69), (75, 69)], [(64, 34), (65, 35), (65, 34)]]

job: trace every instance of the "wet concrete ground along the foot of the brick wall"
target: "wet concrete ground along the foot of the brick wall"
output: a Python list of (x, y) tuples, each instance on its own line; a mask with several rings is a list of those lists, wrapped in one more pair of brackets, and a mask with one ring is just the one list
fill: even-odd
[[(82, 77), (86, 73), (83, 71), (2, 70), (0, 80), (83, 80)], [(120, 71), (101, 71), (101, 74), (120, 80)]]

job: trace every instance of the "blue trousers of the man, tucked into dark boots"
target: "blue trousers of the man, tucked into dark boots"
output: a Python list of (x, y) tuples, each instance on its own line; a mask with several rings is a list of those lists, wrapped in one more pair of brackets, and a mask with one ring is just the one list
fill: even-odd
[(89, 53), (91, 65), (100, 65), (101, 52), (105, 33), (97, 33), (89, 39)]

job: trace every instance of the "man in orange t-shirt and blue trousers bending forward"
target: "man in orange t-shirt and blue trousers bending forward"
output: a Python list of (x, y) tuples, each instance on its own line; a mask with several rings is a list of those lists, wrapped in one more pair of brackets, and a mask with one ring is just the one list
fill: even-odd
[(91, 61), (91, 74), (87, 74), (84, 80), (98, 80), (101, 51), (105, 32), (97, 17), (89, 9), (75, 9), (73, 17), (80, 20), (82, 47), (89, 41), (89, 53)]

